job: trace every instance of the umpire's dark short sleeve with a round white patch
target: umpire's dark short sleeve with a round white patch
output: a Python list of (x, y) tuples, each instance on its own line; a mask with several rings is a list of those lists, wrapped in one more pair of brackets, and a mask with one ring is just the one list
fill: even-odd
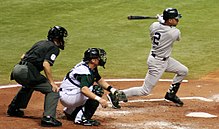
[(48, 52), (46, 53), (46, 56), (45, 56), (45, 60), (47, 60), (51, 66), (53, 66), (57, 56), (59, 55), (59, 48), (58, 47), (50, 47), (48, 49)]

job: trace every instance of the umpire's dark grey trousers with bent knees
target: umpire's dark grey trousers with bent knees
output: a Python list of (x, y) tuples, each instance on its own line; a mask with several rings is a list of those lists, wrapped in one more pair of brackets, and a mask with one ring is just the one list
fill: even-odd
[(33, 91), (45, 94), (43, 116), (56, 118), (56, 108), (59, 100), (58, 92), (53, 92), (48, 79), (29, 63), (17, 64), (12, 71), (12, 79), (22, 85), (17, 95), (12, 100), (9, 108), (25, 109)]

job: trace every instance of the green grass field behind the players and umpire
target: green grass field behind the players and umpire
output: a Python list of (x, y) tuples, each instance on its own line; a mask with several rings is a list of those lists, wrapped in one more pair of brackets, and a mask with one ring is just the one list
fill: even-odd
[[(10, 71), (48, 29), (61, 25), (69, 32), (66, 49), (57, 58), (55, 80), (62, 80), (88, 47), (107, 51), (104, 78), (144, 78), (150, 51), (149, 25), (156, 20), (129, 21), (128, 15), (162, 13), (175, 7), (183, 18), (182, 40), (172, 56), (189, 68), (187, 79), (198, 79), (219, 66), (218, 0), (0, 0), (0, 84), (9, 84)], [(171, 78), (173, 74), (164, 74)]]

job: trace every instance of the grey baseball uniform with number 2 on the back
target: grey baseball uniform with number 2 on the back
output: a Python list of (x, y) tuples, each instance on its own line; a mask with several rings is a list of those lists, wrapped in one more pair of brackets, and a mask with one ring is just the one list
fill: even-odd
[(175, 73), (173, 84), (180, 83), (188, 73), (188, 68), (170, 57), (173, 43), (180, 40), (180, 30), (154, 22), (150, 26), (152, 48), (148, 56), (148, 72), (140, 87), (123, 90), (127, 97), (148, 95), (164, 72)]

